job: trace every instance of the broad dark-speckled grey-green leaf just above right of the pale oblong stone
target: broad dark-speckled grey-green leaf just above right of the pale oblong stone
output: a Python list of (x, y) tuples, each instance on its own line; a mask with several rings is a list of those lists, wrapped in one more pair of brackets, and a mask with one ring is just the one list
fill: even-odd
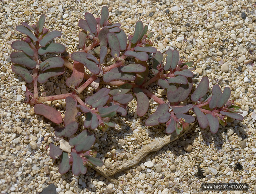
[(76, 137), (70, 138), (69, 144), (75, 146), (77, 152), (89, 150), (95, 142), (95, 136), (87, 130), (82, 131)]

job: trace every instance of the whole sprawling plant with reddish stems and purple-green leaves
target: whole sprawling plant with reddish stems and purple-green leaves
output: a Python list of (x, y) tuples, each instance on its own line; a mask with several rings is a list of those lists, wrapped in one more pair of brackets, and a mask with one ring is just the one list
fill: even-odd
[[(34, 105), (36, 114), (61, 124), (55, 135), (68, 140), (72, 146), (67, 153), (53, 143), (50, 145), (50, 156), (61, 159), (60, 173), (66, 173), (71, 164), (75, 175), (85, 174), (86, 165), (103, 165), (100, 159), (95, 158), (96, 152), (90, 150), (95, 142), (91, 132), (96, 128), (104, 131), (114, 127), (111, 117), (116, 114), (126, 116), (126, 105), (133, 96), (137, 99), (137, 115), (141, 117), (148, 112), (149, 98), (159, 104), (146, 120), (146, 126), (165, 123), (167, 133), (179, 135), (187, 129), (189, 123), (195, 121), (193, 113), (199, 125), (202, 128), (210, 126), (212, 133), (218, 131), (219, 123), (226, 125), (227, 117), (243, 119), (235, 112), (239, 107), (229, 100), (231, 91), (228, 87), (222, 92), (218, 85), (214, 85), (212, 94), (207, 95), (209, 79), (204, 77), (191, 92), (194, 76), (191, 70), (194, 68), (190, 67), (194, 63), (181, 61), (177, 50), (167, 50), (164, 57), (150, 41), (153, 32), (147, 34), (148, 26), (143, 26), (141, 21), (136, 23), (134, 34), (127, 38), (119, 28), (121, 24), (111, 23), (106, 6), (102, 7), (99, 18), (86, 13), (85, 20), (78, 22), (82, 29), (78, 46), (81, 50), (67, 54), (65, 46), (52, 42), (61, 33), (43, 28), (44, 20), (45, 15), (41, 15), (37, 25), (30, 27), (22, 23), (22, 26), (16, 27), (27, 37), (11, 44), (13, 49), (21, 52), (13, 52), (10, 56), (14, 63), (13, 72), (27, 83), (33, 83), (34, 91), (27, 88), (25, 102)], [(73, 64), (68, 61), (69, 58), (74, 61)], [(107, 60), (109, 58), (112, 60)], [(128, 60), (132, 62), (127, 63)], [(53, 96), (42, 93), (39, 96), (37, 83), (63, 74), (63, 66), (72, 70), (72, 75), (66, 80), (72, 92)], [(149, 85), (153, 83), (166, 90), (165, 100), (149, 91)], [(79, 94), (89, 85), (94, 87), (96, 93), (83, 101)], [(104, 85), (111, 87), (108, 89)], [(55, 108), (43, 104), (61, 99), (66, 101), (64, 119)], [(190, 103), (181, 105), (184, 101)], [(85, 116), (85, 130), (79, 133), (77, 117), (81, 115)]]

